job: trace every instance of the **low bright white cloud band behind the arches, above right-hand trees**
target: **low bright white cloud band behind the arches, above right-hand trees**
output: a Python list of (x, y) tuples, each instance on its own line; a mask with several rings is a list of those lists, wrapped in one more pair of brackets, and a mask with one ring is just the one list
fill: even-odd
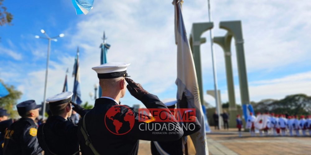
[[(249, 83), (249, 98), (251, 101), (263, 99), (282, 99), (286, 95), (307, 94), (311, 95), (311, 72), (287, 75), (282, 78), (254, 81)], [(239, 86), (235, 86), (236, 103), (241, 103)], [(215, 99), (205, 95), (205, 100), (215, 106)], [(228, 91), (221, 92), (222, 102), (228, 101)]]

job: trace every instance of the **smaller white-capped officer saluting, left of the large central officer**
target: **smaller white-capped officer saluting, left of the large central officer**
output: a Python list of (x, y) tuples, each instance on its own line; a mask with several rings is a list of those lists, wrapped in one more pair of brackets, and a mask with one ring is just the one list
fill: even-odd
[(72, 95), (72, 92), (63, 92), (46, 100), (49, 102), (53, 116), (38, 128), (38, 141), (46, 155), (79, 154), (78, 126), (68, 119), (72, 109), (81, 116), (86, 113), (86, 110), (71, 102)]

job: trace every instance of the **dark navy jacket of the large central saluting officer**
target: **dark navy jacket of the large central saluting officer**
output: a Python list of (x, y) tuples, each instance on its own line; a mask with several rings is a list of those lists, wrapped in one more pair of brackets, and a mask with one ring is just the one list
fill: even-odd
[[(167, 107), (159, 100), (156, 95), (146, 94), (142, 97), (142, 103), (146, 106), (146, 108), (162, 108), (167, 109)], [(129, 106), (118, 106), (120, 107), (120, 115), (116, 116), (115, 119), (122, 120), (125, 118), (124, 116), (129, 111), (133, 112), (135, 117), (135, 123), (132, 129), (124, 134), (124, 135), (115, 135), (110, 132), (108, 128), (111, 126), (106, 127), (105, 125), (105, 115), (109, 108), (113, 106), (118, 106), (118, 104), (111, 99), (107, 98), (99, 98), (95, 101), (95, 106), (92, 110), (86, 113), (85, 123), (86, 123), (86, 130), (90, 135), (90, 139), (92, 144), (94, 145), (95, 149), (100, 154), (137, 154), (138, 153), (138, 144), (139, 139), (142, 140), (152, 140), (152, 141), (173, 141), (177, 140), (182, 137), (183, 130), (180, 127), (179, 123), (174, 119), (171, 122), (139, 122), (139, 117), (142, 117), (139, 113), (134, 112), (132, 108)], [(129, 110), (130, 109), (130, 110)], [(109, 110), (110, 111), (110, 110)], [(169, 110), (167, 109), (168, 114), (170, 114)], [(120, 118), (121, 117), (121, 118)], [(123, 117), (123, 118), (122, 118)], [(81, 122), (83, 119), (80, 120), (78, 126), (80, 131)], [(152, 126), (158, 124), (158, 126), (167, 125), (174, 125), (178, 126), (173, 131), (168, 131), (169, 129), (160, 130), (160, 132), (165, 132), (167, 134), (155, 134), (153, 130), (145, 130), (146, 125)], [(141, 125), (141, 126), (140, 126)], [(124, 124), (125, 126), (125, 124)], [(121, 128), (122, 129), (122, 128)], [(142, 130), (141, 130), (142, 129)], [(174, 134), (169, 134), (169, 132), (174, 132)], [(80, 143), (81, 152), (83, 155), (91, 155), (93, 152), (91, 149), (86, 146), (85, 139), (81, 132), (78, 132), (78, 139)]]

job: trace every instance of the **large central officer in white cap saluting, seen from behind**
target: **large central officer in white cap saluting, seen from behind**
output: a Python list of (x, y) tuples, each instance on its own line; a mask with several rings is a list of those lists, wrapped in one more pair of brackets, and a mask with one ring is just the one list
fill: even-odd
[[(137, 154), (139, 139), (173, 141), (181, 138), (183, 130), (169, 109), (159, 100), (128, 77), (128, 63), (107, 63), (94, 67), (100, 79), (102, 96), (95, 106), (80, 119), (78, 139), (83, 155)], [(125, 81), (128, 83), (126, 86)], [(147, 108), (160, 108), (171, 121), (157, 122), (153, 117), (134, 112), (127, 105), (119, 105), (125, 87)], [(140, 119), (146, 119), (139, 121)], [(127, 128), (127, 126), (130, 126)], [(155, 126), (161, 126), (157, 132)], [(167, 128), (165, 128), (166, 126)]]

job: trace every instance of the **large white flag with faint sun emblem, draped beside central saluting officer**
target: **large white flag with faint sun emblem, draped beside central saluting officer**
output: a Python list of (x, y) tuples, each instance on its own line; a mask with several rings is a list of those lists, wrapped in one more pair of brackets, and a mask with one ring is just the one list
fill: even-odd
[[(180, 101), (183, 95), (186, 96), (188, 108), (196, 108), (196, 116), (201, 124), (200, 131), (190, 135), (196, 153), (208, 154), (205, 120), (200, 101), (197, 73), (194, 67), (193, 55), (187, 39), (183, 15), (181, 11), (182, 0), (174, 0), (175, 7), (175, 43), (177, 44), (177, 100)], [(177, 102), (179, 108), (179, 102)]]

